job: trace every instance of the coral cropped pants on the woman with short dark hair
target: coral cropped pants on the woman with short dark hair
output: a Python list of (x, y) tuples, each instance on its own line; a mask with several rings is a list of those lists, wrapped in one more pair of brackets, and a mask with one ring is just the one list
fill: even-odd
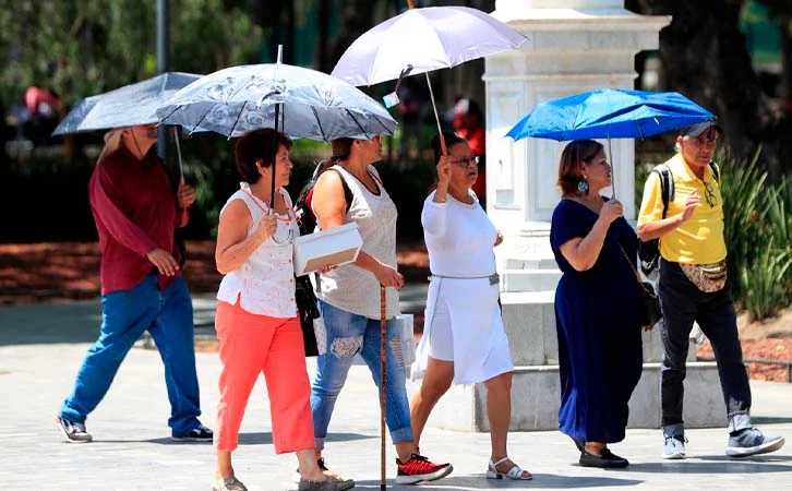
[(311, 388), (298, 318), (253, 314), (239, 302), (231, 306), (218, 301), (215, 326), (223, 361), (215, 447), (221, 451), (237, 447), (250, 393), (259, 373), (264, 372), (275, 452), (313, 448)]

